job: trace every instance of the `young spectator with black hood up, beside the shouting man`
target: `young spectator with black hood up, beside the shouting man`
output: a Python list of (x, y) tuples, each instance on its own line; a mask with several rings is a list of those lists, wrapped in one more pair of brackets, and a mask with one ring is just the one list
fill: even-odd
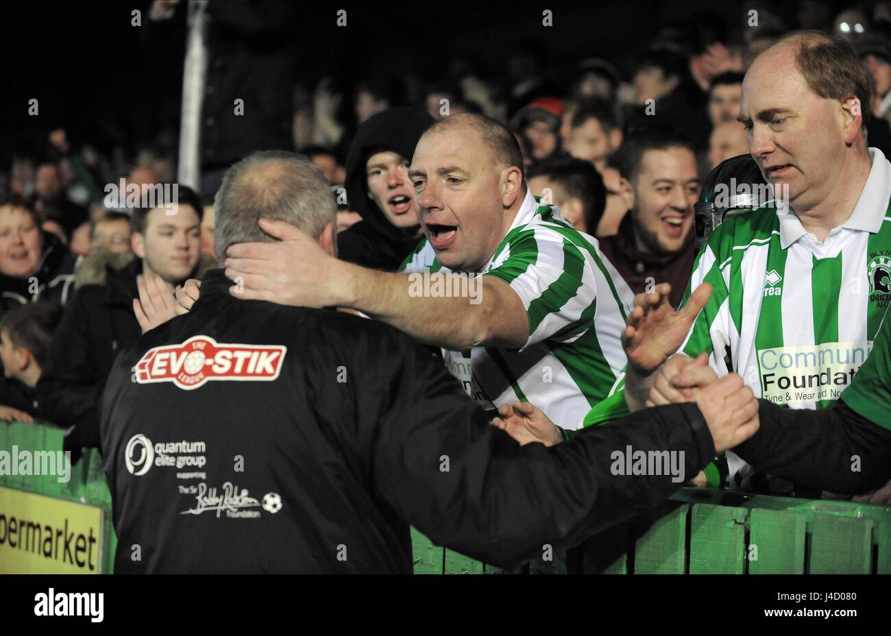
[(338, 236), (338, 257), (395, 270), (421, 240), (408, 164), (434, 123), (427, 112), (394, 108), (359, 126), (347, 153), (347, 199), (362, 221)]

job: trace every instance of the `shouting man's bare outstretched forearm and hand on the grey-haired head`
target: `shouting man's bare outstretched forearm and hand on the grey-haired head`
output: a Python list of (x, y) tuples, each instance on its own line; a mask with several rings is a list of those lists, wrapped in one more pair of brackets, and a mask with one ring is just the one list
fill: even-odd
[[(241, 282), (233, 287), (236, 298), (353, 307), (421, 342), (454, 350), (521, 347), (527, 341), (526, 308), (495, 277), (379, 272), (331, 257), (293, 225), (264, 219), (260, 226), (280, 241), (229, 248), (225, 273)], [(439, 280), (425, 281), (425, 275)]]

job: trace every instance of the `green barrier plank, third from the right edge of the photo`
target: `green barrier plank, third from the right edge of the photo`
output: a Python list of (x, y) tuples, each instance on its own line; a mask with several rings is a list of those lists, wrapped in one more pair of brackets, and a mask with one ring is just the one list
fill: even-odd
[(805, 573), (807, 519), (781, 510), (752, 510), (746, 555), (752, 575)]

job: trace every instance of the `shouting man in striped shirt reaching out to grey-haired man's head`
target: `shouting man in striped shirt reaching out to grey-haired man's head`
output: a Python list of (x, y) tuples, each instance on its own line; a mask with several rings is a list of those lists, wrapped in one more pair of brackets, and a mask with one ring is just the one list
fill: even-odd
[(230, 258), (226, 273), (243, 279), (241, 298), (353, 307), (441, 347), (492, 415), (531, 400), (579, 428), (625, 366), (619, 334), (633, 294), (595, 239), (536, 203), (522, 166), (494, 119), (445, 118), (421, 136), (409, 169), (426, 235), (411, 273), (344, 263), (274, 224), (264, 229), (282, 242), (266, 251), (282, 256)]

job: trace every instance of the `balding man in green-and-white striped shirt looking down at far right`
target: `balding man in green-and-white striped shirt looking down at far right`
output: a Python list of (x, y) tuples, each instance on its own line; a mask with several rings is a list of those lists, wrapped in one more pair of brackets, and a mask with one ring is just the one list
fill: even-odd
[[(679, 344), (791, 408), (830, 405), (851, 383), (891, 300), (891, 163), (867, 147), (862, 72), (849, 46), (822, 34), (785, 38), (752, 64), (740, 120), (768, 182), (788, 187), (789, 206), (715, 230), (684, 303), (702, 283), (713, 292), (689, 332), (682, 318), (695, 314), (639, 299), (625, 331), (629, 406), (674, 396), (674, 365), (661, 380), (653, 371)], [(743, 465), (732, 453), (728, 461), (731, 473)]]

